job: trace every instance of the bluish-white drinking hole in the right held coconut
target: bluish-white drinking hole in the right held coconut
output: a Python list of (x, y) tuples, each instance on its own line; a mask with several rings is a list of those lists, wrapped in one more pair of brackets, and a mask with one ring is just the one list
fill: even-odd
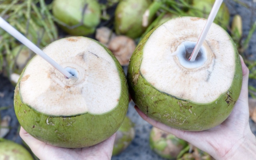
[(196, 56), (196, 60), (190, 61), (188, 60), (191, 56), (194, 48), (196, 46), (196, 42), (185, 41), (182, 42), (177, 50), (174, 52), (175, 55), (179, 58), (180, 64), (185, 68), (199, 68), (204, 65), (204, 62), (207, 60), (206, 50), (204, 46), (202, 46)]

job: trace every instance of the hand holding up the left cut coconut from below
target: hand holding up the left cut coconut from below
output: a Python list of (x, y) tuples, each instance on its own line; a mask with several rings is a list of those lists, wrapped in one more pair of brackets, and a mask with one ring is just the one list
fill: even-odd
[(32, 152), (40, 159), (111, 159), (116, 134), (92, 147), (61, 148), (46, 144), (32, 137), (20, 127), (20, 137), (27, 143)]

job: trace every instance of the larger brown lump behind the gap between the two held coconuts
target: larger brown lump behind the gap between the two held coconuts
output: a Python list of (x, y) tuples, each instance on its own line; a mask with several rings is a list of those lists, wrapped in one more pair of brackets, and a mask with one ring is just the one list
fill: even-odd
[(116, 36), (110, 40), (108, 48), (113, 52), (122, 66), (127, 66), (136, 48), (136, 44), (132, 38)]

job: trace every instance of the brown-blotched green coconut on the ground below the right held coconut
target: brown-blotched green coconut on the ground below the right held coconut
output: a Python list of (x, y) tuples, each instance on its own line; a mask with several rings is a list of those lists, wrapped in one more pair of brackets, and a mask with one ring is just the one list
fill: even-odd
[(180, 152), (188, 146), (188, 142), (177, 138), (171, 133), (152, 127), (149, 145), (159, 156), (166, 159), (176, 159)]

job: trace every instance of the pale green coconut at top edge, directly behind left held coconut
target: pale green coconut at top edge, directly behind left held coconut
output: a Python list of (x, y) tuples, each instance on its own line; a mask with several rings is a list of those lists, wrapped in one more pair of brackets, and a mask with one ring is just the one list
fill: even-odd
[(97, 0), (54, 0), (52, 13), (68, 34), (86, 36), (100, 24), (100, 4)]

